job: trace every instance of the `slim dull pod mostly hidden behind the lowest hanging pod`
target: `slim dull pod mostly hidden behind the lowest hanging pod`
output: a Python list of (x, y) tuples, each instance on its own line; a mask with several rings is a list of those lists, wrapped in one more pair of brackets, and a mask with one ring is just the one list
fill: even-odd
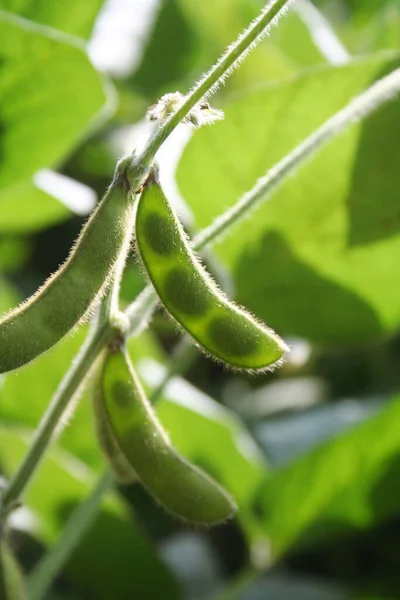
[(137, 480), (137, 475), (125, 455), (120, 450), (105, 410), (102, 389), (104, 360), (105, 354), (101, 357), (100, 364), (96, 368), (93, 389), (93, 409), (97, 439), (99, 440), (100, 448), (102, 449), (117, 481), (121, 484), (128, 485)]

